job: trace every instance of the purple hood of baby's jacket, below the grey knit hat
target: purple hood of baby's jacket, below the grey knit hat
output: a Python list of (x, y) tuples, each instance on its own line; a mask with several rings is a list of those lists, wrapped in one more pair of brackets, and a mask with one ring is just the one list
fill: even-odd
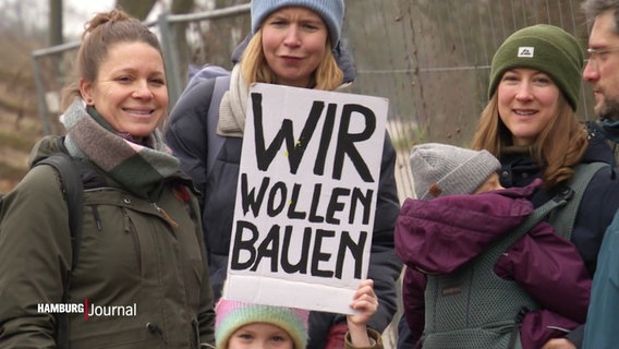
[(409, 198), (396, 221), (396, 254), (428, 274), (448, 274), (520, 225), (533, 212), (541, 186), (509, 188), (475, 195)]

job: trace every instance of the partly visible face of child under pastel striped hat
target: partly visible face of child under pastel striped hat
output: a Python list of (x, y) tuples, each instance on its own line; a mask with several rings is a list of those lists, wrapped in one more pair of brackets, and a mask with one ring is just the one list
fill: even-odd
[(283, 328), (253, 323), (239, 327), (228, 341), (228, 349), (293, 349), (294, 341)]

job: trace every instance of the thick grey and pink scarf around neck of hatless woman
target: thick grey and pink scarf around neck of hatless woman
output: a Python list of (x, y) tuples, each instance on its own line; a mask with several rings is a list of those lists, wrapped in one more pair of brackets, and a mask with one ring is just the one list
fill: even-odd
[(155, 130), (139, 145), (124, 140), (84, 101), (75, 100), (61, 118), (66, 129), (64, 144), (72, 156), (85, 158), (133, 194), (150, 201), (159, 196), (163, 180), (178, 173), (179, 159)]

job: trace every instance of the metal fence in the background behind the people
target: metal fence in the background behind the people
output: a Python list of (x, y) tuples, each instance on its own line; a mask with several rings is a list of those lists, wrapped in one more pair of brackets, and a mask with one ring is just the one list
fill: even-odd
[[(248, 1), (245, 1), (248, 2)], [(586, 46), (580, 0), (348, 0), (342, 43), (357, 77), (353, 93), (390, 100), (388, 131), (398, 149), (400, 198), (413, 195), (409, 152), (416, 143), (469, 145), (487, 100), (489, 63), (500, 43), (535, 23), (560, 26)], [(193, 14), (162, 14), (159, 34), (173, 104), (187, 65), (231, 68), (230, 53), (250, 28), (248, 3)], [(59, 133), (58, 92), (71, 77), (78, 43), (33, 52), (40, 118)], [(592, 94), (579, 115), (588, 119)]]

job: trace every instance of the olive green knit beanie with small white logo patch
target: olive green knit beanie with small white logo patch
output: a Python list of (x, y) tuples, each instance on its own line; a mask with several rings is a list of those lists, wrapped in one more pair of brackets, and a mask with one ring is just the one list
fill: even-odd
[(490, 68), (491, 98), (507, 70), (530, 68), (548, 74), (575, 111), (582, 82), (584, 56), (575, 37), (548, 24), (522, 28), (499, 47)]

